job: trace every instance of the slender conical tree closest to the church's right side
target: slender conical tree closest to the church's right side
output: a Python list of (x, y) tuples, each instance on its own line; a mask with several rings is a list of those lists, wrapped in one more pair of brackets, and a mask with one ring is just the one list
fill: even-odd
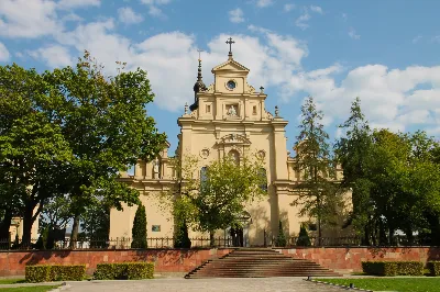
[(306, 99), (301, 106), (302, 121), (295, 144), (295, 168), (301, 181), (295, 189), (293, 205), (299, 205), (299, 214), (317, 220), (318, 237), (322, 237), (322, 224), (333, 207), (342, 201), (336, 180), (336, 165), (330, 157), (328, 138), (323, 130), (322, 112), (318, 111), (314, 98)]

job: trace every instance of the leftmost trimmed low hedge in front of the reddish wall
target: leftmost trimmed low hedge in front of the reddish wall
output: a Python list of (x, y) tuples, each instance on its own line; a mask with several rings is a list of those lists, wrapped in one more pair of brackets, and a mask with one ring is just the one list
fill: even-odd
[(26, 266), (26, 282), (52, 282), (52, 281), (81, 281), (86, 277), (86, 265), (35, 265)]

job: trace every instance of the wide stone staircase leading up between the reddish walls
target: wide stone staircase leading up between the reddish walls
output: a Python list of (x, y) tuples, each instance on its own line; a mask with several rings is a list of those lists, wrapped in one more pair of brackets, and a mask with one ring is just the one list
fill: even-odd
[(265, 277), (340, 277), (318, 263), (294, 259), (268, 248), (240, 248), (206, 261), (185, 276), (200, 278), (265, 278)]

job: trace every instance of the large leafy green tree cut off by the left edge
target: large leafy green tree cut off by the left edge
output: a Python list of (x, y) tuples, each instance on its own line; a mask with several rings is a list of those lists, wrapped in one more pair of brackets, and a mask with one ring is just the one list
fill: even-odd
[(59, 175), (73, 159), (59, 123), (48, 114), (57, 102), (54, 91), (34, 69), (0, 67), (1, 237), (11, 216), (20, 215), (24, 245), (46, 200), (65, 191)]

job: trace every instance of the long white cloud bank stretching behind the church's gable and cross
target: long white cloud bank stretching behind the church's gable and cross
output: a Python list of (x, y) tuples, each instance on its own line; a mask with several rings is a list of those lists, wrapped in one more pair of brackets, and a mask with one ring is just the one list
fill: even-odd
[[(193, 102), (198, 57), (194, 35), (169, 32), (136, 43), (117, 34), (114, 29), (112, 20), (80, 24), (72, 32), (57, 35), (57, 41), (63, 47), (75, 48), (75, 55), (88, 49), (109, 74), (116, 72), (116, 60), (127, 61), (128, 70), (138, 67), (147, 70), (160, 108), (182, 111), (185, 102)], [(349, 114), (350, 103), (360, 97), (373, 126), (404, 131), (418, 123), (431, 132), (440, 128), (440, 119), (436, 120), (440, 113), (440, 66), (393, 69), (371, 64), (346, 72), (340, 64), (331, 64), (305, 70), (302, 63), (308, 48), (304, 42), (255, 25), (249, 25), (249, 30), (252, 35), (220, 34), (206, 44), (202, 71), (207, 86), (213, 81), (210, 69), (228, 58), (229, 47), (224, 42), (232, 36), (234, 59), (251, 69), (252, 86), (274, 88), (276, 96), (286, 102), (297, 103), (304, 96), (314, 96), (328, 124), (342, 122)], [(51, 55), (51, 50), (45, 52)], [(58, 56), (55, 63), (67, 64), (70, 59), (66, 49), (52, 48), (52, 52), (57, 52), (52, 53)], [(43, 52), (38, 53), (44, 58)]]

